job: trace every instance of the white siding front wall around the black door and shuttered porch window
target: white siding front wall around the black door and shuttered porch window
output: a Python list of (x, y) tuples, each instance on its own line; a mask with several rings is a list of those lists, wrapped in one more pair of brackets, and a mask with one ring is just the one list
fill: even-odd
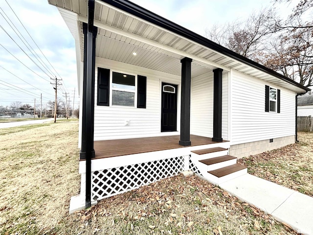
[[(180, 77), (163, 72), (144, 69), (116, 61), (96, 57), (95, 70), (95, 100), (97, 98), (97, 68), (123, 71), (147, 77), (146, 108), (139, 109), (127, 106), (97, 106), (94, 107), (94, 140), (113, 140), (140, 138), (160, 135), (178, 135), (179, 132), (161, 133), (161, 87), (160, 81), (179, 84)], [(178, 118), (180, 118), (180, 93), (178, 93)], [(111, 96), (112, 97), (112, 96)], [(178, 119), (179, 120), (179, 119)], [(125, 121), (130, 121), (126, 126)], [(179, 130), (179, 121), (178, 121)]]

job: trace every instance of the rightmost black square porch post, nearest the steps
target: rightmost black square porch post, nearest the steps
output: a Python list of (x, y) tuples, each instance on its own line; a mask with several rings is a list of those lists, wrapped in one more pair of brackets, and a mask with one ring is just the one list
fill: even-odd
[(222, 69), (213, 70), (213, 138), (212, 141), (222, 142)]

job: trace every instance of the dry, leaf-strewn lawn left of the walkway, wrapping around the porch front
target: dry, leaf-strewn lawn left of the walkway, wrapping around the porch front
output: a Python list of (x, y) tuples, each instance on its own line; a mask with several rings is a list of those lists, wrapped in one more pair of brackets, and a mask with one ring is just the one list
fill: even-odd
[(0, 234), (296, 234), (223, 189), (181, 175), (68, 214), (77, 121), (0, 130)]

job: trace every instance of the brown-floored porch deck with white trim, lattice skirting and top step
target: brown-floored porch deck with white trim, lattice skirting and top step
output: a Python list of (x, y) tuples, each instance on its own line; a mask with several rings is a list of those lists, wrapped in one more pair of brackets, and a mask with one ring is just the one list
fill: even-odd
[[(91, 160), (90, 169), (91, 202), (95, 203), (186, 170), (206, 177), (207, 164), (202, 164), (199, 160), (207, 157), (219, 160), (220, 156), (228, 153), (230, 142), (215, 142), (212, 138), (196, 135), (190, 137), (192, 144), (189, 146), (179, 145), (179, 135), (94, 141), (95, 157)], [(232, 159), (221, 159), (212, 164), (226, 162), (227, 165), (233, 164)], [(233, 172), (232, 169), (225, 170), (226, 174)], [(79, 172), (82, 175), (81, 195), (84, 195), (87, 185), (85, 160), (80, 161)], [(209, 180), (213, 182), (215, 179)]]

